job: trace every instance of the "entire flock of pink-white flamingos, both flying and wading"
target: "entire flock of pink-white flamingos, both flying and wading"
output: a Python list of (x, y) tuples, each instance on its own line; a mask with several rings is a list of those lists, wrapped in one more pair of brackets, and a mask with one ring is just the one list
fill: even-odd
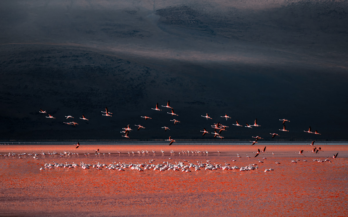
[[(167, 102), (167, 105), (166, 105), (166, 106), (162, 106), (162, 107), (171, 109), (171, 112), (167, 112), (167, 113), (170, 114), (171, 116), (179, 116), (179, 115), (177, 115), (177, 114), (174, 113), (174, 109), (170, 106), (169, 101)], [(151, 109), (157, 110), (157, 111), (161, 111), (161, 109), (159, 109), (158, 103), (157, 103), (157, 105), (156, 105), (156, 108), (151, 108)], [(41, 113), (47, 114), (46, 111), (41, 110), (41, 109), (40, 109), (40, 112), (41, 112)], [(101, 111), (101, 112), (105, 113), (105, 114), (102, 114), (102, 115), (104, 115), (104, 116), (109, 116), (109, 117), (112, 116), (112, 113), (109, 112), (109, 110), (108, 110), (107, 107), (105, 107), (105, 111)], [(55, 117), (53, 117), (53, 116), (51, 116), (51, 115), (49, 115), (49, 114), (47, 114), (47, 115), (48, 115), (48, 116), (46, 116), (46, 118), (55, 118)], [(211, 117), (209, 117), (208, 114), (206, 114), (205, 116), (203, 116), (203, 115), (201, 115), (201, 116), (204, 117), (204, 118), (206, 118), (207, 120), (208, 120), (208, 119), (212, 119)], [(65, 116), (65, 117), (66, 117), (66, 119), (68, 119), (68, 118), (74, 118), (74, 117), (72, 117), (72, 116), (70, 116), (70, 115), (69, 115), (69, 116)], [(142, 117), (142, 118), (145, 118), (145, 120), (147, 120), (147, 119), (152, 119), (151, 117), (148, 117), (148, 116), (141, 116), (141, 117)], [(229, 117), (227, 114), (225, 114), (224, 116), (221, 116), (221, 117), (226, 118), (226, 120), (228, 120), (228, 118), (231, 118), (231, 117)], [(82, 118), (80, 117), (80, 119), (88, 121), (88, 119), (87, 119), (87, 118), (85, 117), (85, 115), (83, 115), (83, 114), (82, 114)], [(282, 123), (283, 123), (283, 129), (279, 129), (279, 131), (288, 132), (288, 130), (286, 130), (285, 123), (286, 123), (286, 122), (290, 122), (290, 121), (287, 120), (287, 119), (279, 119), (279, 120), (281, 120)], [(175, 126), (177, 123), (180, 123), (180, 121), (178, 121), (178, 120), (176, 120), (176, 119), (173, 119), (173, 120), (171, 120), (171, 121), (174, 122), (174, 126)], [(78, 123), (76, 123), (76, 122), (64, 122), (64, 123), (65, 123), (65, 124), (68, 124), (68, 125), (74, 125), (74, 126), (78, 125)], [(240, 125), (240, 124), (238, 123), (238, 120), (236, 120), (236, 124), (233, 124), (233, 125), (243, 127), (243, 125)], [(141, 130), (142, 128), (145, 128), (144, 126), (141, 126), (141, 125), (135, 125), (135, 126), (137, 127), (137, 130), (138, 130), (138, 131)], [(253, 125), (249, 125), (249, 124), (246, 123), (246, 126), (245, 126), (245, 127), (252, 128), (252, 127), (259, 127), (259, 126), (260, 126), (260, 125), (258, 125), (258, 123), (257, 123), (257, 118), (256, 118)], [(213, 135), (214, 135), (214, 138), (216, 138), (216, 137), (219, 137), (219, 138), (221, 138), (221, 139), (224, 138), (223, 136), (221, 136), (221, 133), (224, 132), (224, 131), (226, 131), (226, 128), (227, 128), (228, 126), (224, 126), (224, 125), (220, 124), (220, 122), (218, 122), (218, 123), (212, 125), (211, 127), (213, 128), (214, 131), (213, 131), (213, 132), (208, 132), (208, 131), (206, 130), (206, 128), (203, 128), (203, 131), (200, 131), (200, 132), (203, 132), (202, 136), (205, 136), (206, 134), (209, 134), (209, 133), (210, 133), (210, 134), (213, 134)], [(164, 128), (165, 131), (170, 130), (169, 127), (166, 127), (166, 126), (161, 127), (161, 128)], [(126, 137), (126, 138), (129, 138), (129, 133), (132, 131), (132, 129), (130, 128), (130, 126), (128, 125), (127, 127), (122, 128), (122, 130), (123, 130), (123, 131), (122, 131), (121, 133), (124, 133), (124, 135), (122, 135), (122, 136), (123, 136), (123, 137)], [(304, 131), (304, 132), (313, 133), (313, 134), (319, 134), (319, 135), (320, 135), (320, 133), (318, 133), (316, 130), (315, 130), (315, 132), (312, 132), (312, 131), (311, 131), (311, 127), (309, 127), (308, 131)], [(277, 133), (270, 133), (270, 134), (271, 134), (272, 138), (274, 138), (275, 136), (279, 136)], [(258, 143), (258, 140), (263, 139), (263, 138), (261, 138), (260, 136), (252, 136), (252, 137), (255, 138), (255, 139), (254, 139), (254, 141), (250, 141), (250, 142), (252, 143), (251, 145), (254, 145), (254, 144)], [(168, 142), (169, 142), (169, 145), (172, 145), (174, 142), (176, 143), (176, 141), (175, 141), (174, 139), (172, 139), (171, 136), (169, 136), (169, 139), (167, 139), (167, 140), (165, 140), (165, 141), (168, 141)], [(317, 147), (315, 146), (314, 143), (315, 143), (315, 141), (313, 141), (313, 142), (310, 144), (310, 146), (313, 147), (313, 150), (312, 150), (311, 152), (318, 153), (319, 151), (323, 151), (323, 150), (321, 149), (321, 147), (318, 147), (318, 148), (317, 148)], [(79, 148), (79, 147), (81, 146), (79, 142), (78, 142), (77, 144), (74, 144), (74, 145), (76, 145), (76, 148)], [(95, 155), (100, 155), (100, 154), (101, 154), (100, 151), (99, 151), (99, 149), (96, 149), (96, 150), (94, 150), (94, 151), (95, 151)], [(304, 156), (303, 151), (304, 151), (304, 150), (300, 150), (299, 153), (297, 153), (297, 154)], [(163, 150), (161, 150), (161, 152), (164, 153)], [(217, 152), (219, 152), (219, 151), (217, 151)], [(264, 149), (263, 149), (262, 151), (260, 151), (260, 149), (258, 149), (257, 152), (253, 152), (253, 153), (256, 153), (255, 156), (254, 156), (254, 158), (256, 158), (259, 154), (263, 154), (263, 153), (265, 153), (265, 152), (266, 152), (266, 147), (264, 147)], [(308, 152), (309, 152), (309, 151), (308, 151)], [(118, 153), (120, 154), (121, 152), (118, 152)], [(132, 152), (132, 153), (133, 153), (133, 155), (134, 155), (134, 152)], [(140, 154), (140, 153), (149, 153), (149, 151), (146, 151), (146, 152), (145, 152), (145, 151), (142, 151), (142, 152), (138, 151), (138, 153), (139, 153), (139, 154)], [(153, 153), (153, 154), (156, 154), (156, 151), (153, 151), (153, 150), (152, 150), (152, 153)], [(171, 154), (173, 155), (174, 153), (175, 153), (175, 152), (174, 152), (173, 150), (171, 150)], [(192, 151), (192, 155), (193, 155), (194, 153), (201, 154), (202, 152), (201, 152), (201, 151), (195, 151), (195, 152)], [(208, 152), (207, 152), (207, 151), (206, 151), (206, 152), (203, 152), (203, 153), (204, 153), (204, 154), (206, 153), (206, 154), (208, 155)], [(220, 153), (220, 152), (219, 152), (219, 153)], [(296, 152), (295, 152), (295, 153), (296, 153)], [(25, 154), (25, 155), (31, 155), (31, 156), (33, 156), (33, 154), (26, 154), (26, 153), (24, 153), (24, 154)], [(24, 155), (24, 154), (21, 154), (21, 155), (19, 156), (19, 158), (22, 158), (21, 156)], [(49, 153), (49, 155), (57, 155), (57, 154), (58, 154), (58, 153)], [(64, 152), (64, 154), (60, 153), (60, 157), (64, 157), (64, 156), (66, 156), (66, 155), (72, 155), (72, 154), (73, 154), (73, 153), (71, 153), (71, 152)], [(110, 152), (109, 152), (109, 154), (110, 154)], [(130, 155), (131, 153), (128, 152), (128, 154)], [(185, 154), (190, 154), (190, 152), (189, 152), (189, 151), (187, 151), (187, 152), (185, 152), (185, 151), (179, 152), (179, 155), (185, 155)], [(272, 154), (274, 154), (274, 153), (272, 153)], [(12, 155), (13, 155), (13, 153), (12, 153)], [(44, 152), (42, 152), (41, 155), (46, 155), (46, 154), (45, 154)], [(87, 157), (88, 155), (89, 155), (89, 153), (85, 154), (86, 157)], [(105, 153), (104, 153), (103, 155), (105, 155)], [(337, 158), (337, 155), (338, 155), (338, 153), (337, 153), (336, 155), (333, 155), (331, 158), (336, 159), (336, 158)], [(6, 155), (5, 155), (5, 156), (6, 156)], [(10, 156), (10, 153), (9, 153), (8, 156)], [(37, 156), (38, 156), (38, 155), (35, 153), (34, 156), (33, 156), (33, 158), (34, 158), (34, 159), (38, 159)], [(239, 156), (239, 155), (237, 154), (237, 158), (240, 158), (240, 157), (241, 157), (241, 156)], [(263, 157), (263, 156), (262, 156), (262, 157)], [(250, 158), (250, 157), (247, 155), (247, 158)], [(171, 160), (171, 159), (172, 159), (172, 158), (169, 157), (169, 160)], [(263, 157), (263, 159), (267, 159), (267, 158), (264, 158), (264, 157)], [(237, 167), (237, 166), (231, 167), (230, 164), (226, 163), (226, 161), (224, 162), (224, 165), (223, 165), (223, 164), (212, 164), (209, 160), (206, 160), (206, 162), (197, 161), (195, 164), (192, 163), (192, 162), (185, 163), (185, 161), (187, 162), (187, 160), (184, 160), (184, 162), (180, 162), (180, 161), (179, 161), (179, 162), (175, 162), (175, 164), (169, 163), (168, 161), (167, 161), (167, 162), (164, 161), (163, 164), (160, 164), (160, 163), (159, 163), (159, 164), (155, 164), (155, 162), (153, 162), (153, 161), (155, 161), (155, 160), (149, 160), (149, 162), (143, 162), (143, 163), (137, 163), (137, 164), (125, 163), (125, 162), (123, 162), (123, 163), (121, 163), (121, 162), (118, 162), (118, 163), (117, 163), (117, 162), (112, 162), (112, 163), (109, 164), (109, 165), (101, 164), (101, 163), (99, 163), (99, 162), (98, 162), (98, 163), (95, 162), (95, 164), (86, 164), (85, 162), (80, 162), (80, 164), (75, 164), (75, 163), (69, 164), (68, 162), (65, 162), (65, 164), (58, 164), (58, 163), (54, 162), (53, 164), (48, 164), (48, 163), (45, 164), (45, 166), (44, 166), (44, 167), (41, 167), (40, 170), (53, 169), (53, 168), (58, 168), (58, 169), (59, 169), (59, 168), (61, 168), (61, 167), (63, 167), (63, 168), (77, 168), (77, 167), (79, 167), (79, 168), (82, 168), (82, 169), (96, 168), (97, 170), (109, 169), (109, 170), (118, 170), (118, 171), (124, 171), (124, 170), (127, 169), (127, 168), (131, 168), (131, 169), (137, 170), (137, 171), (144, 171), (144, 170), (153, 169), (153, 170), (158, 170), (158, 171), (160, 171), (160, 172), (161, 172), (161, 171), (165, 171), (165, 170), (175, 170), (175, 171), (181, 170), (182, 172), (191, 172), (190, 168), (194, 168), (195, 171), (201, 170), (201, 169), (203, 169), (203, 168), (204, 168), (205, 170), (216, 170), (216, 169), (234, 170), (234, 169), (238, 169), (239, 171), (248, 171), (248, 170), (254, 170), (254, 169), (257, 170), (257, 169), (258, 169), (258, 165), (257, 165), (257, 164), (250, 164), (250, 165), (247, 165), (247, 166), (245, 166), (245, 167), (239, 168), (239, 167)], [(231, 161), (234, 162), (234, 161), (236, 161), (236, 160), (234, 160), (233, 157), (231, 157)], [(259, 164), (262, 164), (262, 163), (263, 163), (263, 162), (260, 161), (260, 160), (258, 160), (258, 161), (259, 161)], [(297, 159), (296, 159), (296, 161), (293, 160), (293, 161), (291, 161), (291, 163), (297, 163), (297, 161), (299, 161), (299, 160), (297, 160)], [(307, 160), (303, 160), (303, 161), (306, 162)], [(315, 160), (315, 159), (314, 159), (314, 161), (317, 161), (317, 162), (330, 162), (330, 163), (331, 163), (329, 157), (328, 157), (328, 158), (325, 158), (325, 160), (320, 160), (320, 159)], [(280, 163), (277, 162), (277, 161), (276, 161), (275, 163), (276, 163), (276, 164), (280, 164)], [(264, 172), (269, 172), (269, 171), (271, 171), (271, 170), (273, 170), (273, 169), (272, 169), (272, 168), (270, 168), (270, 169), (265, 169)]]

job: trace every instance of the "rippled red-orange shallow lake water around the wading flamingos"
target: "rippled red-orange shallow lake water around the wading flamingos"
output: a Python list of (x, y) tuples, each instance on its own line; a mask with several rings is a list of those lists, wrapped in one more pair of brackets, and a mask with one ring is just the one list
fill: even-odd
[[(0, 216), (348, 215), (348, 145), (320, 145), (323, 151), (312, 153), (312, 147), (305, 143), (265, 144), (81, 143), (78, 149), (57, 144), (3, 145)], [(253, 152), (262, 151), (265, 146), (266, 153), (254, 157)], [(99, 155), (95, 155), (96, 149), (100, 150)], [(297, 154), (300, 150), (306, 157)], [(47, 155), (41, 155), (41, 151)], [(35, 152), (37, 160), (29, 155), (20, 156), (22, 159), (18, 156)], [(57, 155), (48, 155), (54, 152)], [(16, 155), (4, 156), (8, 153)], [(337, 159), (331, 158), (336, 153)], [(236, 161), (232, 162), (231, 157)], [(325, 161), (327, 157), (330, 161)], [(291, 163), (292, 160), (297, 163)], [(190, 165), (200, 161), (239, 168), (254, 163), (258, 169), (241, 172), (190, 168), (192, 172), (188, 173), (154, 169), (139, 172), (131, 168), (118, 171), (104, 166), (102, 170), (40, 170), (46, 163)], [(274, 170), (264, 172), (270, 168)]]

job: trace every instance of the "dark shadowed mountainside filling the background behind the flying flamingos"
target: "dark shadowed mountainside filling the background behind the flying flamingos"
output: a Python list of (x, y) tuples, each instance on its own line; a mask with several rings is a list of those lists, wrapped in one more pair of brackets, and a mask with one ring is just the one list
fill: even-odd
[(0, 6), (0, 140), (124, 140), (128, 124), (134, 140), (213, 140), (199, 131), (217, 122), (230, 140), (346, 139), (345, 1)]

